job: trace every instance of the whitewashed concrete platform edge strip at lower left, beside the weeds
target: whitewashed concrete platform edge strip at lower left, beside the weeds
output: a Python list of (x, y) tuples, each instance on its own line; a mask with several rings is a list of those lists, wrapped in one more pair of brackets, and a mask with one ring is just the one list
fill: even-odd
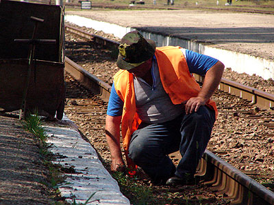
[(85, 141), (73, 122), (64, 115), (64, 126), (46, 125), (49, 149), (56, 154), (56, 161), (62, 167), (72, 169), (66, 179), (58, 186), (67, 201), (84, 204), (114, 205), (130, 204), (121, 193), (116, 180), (103, 167), (95, 150)]

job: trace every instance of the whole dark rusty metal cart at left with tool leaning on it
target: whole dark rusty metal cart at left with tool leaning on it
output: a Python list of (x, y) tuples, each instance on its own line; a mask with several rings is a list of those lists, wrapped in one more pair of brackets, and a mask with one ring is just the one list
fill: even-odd
[(62, 119), (64, 8), (0, 1), (0, 111)]

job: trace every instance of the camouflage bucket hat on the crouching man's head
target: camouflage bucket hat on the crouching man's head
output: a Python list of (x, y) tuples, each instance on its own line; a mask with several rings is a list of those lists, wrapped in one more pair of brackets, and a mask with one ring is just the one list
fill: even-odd
[(121, 39), (117, 66), (130, 70), (144, 63), (155, 53), (155, 42), (145, 39), (138, 31), (131, 31)]

